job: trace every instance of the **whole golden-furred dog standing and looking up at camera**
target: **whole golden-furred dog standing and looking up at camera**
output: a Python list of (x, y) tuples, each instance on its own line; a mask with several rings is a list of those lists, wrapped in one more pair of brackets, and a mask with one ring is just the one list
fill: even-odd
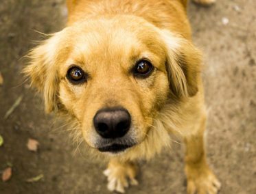
[(136, 161), (161, 152), (170, 134), (185, 142), (187, 193), (220, 189), (206, 160), (201, 53), (186, 7), (186, 0), (67, 0), (67, 27), (29, 54), (24, 72), (45, 111), (67, 115), (89, 150), (109, 161), (110, 191), (138, 184)]

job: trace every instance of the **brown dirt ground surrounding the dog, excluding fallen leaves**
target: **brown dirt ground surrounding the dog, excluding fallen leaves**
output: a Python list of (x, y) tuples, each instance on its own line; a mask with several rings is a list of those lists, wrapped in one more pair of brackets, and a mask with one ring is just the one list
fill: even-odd
[[(210, 8), (189, 3), (194, 42), (205, 54), (205, 96), (209, 109), (209, 163), (222, 182), (220, 193), (256, 193), (256, 1), (217, 0)], [(43, 101), (23, 83), (21, 59), (41, 40), (65, 25), (64, 0), (0, 2), (0, 193), (109, 193), (104, 165), (89, 159), (69, 138), (65, 126), (45, 115)], [(36, 31), (35, 31), (36, 30)], [(4, 119), (15, 100), (19, 106)], [(38, 152), (27, 150), (37, 139)], [(183, 146), (174, 143), (140, 164), (139, 186), (126, 193), (185, 193)], [(36, 182), (28, 178), (43, 174)]]

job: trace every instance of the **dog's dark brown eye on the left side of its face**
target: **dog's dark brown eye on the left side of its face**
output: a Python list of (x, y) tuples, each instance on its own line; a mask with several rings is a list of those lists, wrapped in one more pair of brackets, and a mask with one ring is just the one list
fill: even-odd
[(73, 84), (84, 83), (86, 81), (86, 74), (81, 68), (75, 66), (67, 71), (67, 79)]

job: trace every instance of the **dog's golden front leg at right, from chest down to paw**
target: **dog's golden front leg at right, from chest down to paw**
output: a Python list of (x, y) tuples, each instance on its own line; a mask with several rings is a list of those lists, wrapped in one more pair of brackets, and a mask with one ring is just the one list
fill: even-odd
[[(195, 129), (196, 130), (196, 129)], [(216, 194), (220, 182), (207, 165), (204, 148), (205, 118), (202, 119), (197, 133), (185, 137), (185, 172), (187, 174), (188, 194)]]

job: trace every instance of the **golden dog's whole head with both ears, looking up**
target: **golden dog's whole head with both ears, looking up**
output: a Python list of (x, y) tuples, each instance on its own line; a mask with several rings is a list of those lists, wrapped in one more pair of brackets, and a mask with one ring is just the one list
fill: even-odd
[(164, 106), (196, 94), (198, 55), (187, 40), (123, 16), (54, 34), (32, 51), (25, 72), (47, 111), (67, 111), (89, 146), (120, 153), (148, 141)]

